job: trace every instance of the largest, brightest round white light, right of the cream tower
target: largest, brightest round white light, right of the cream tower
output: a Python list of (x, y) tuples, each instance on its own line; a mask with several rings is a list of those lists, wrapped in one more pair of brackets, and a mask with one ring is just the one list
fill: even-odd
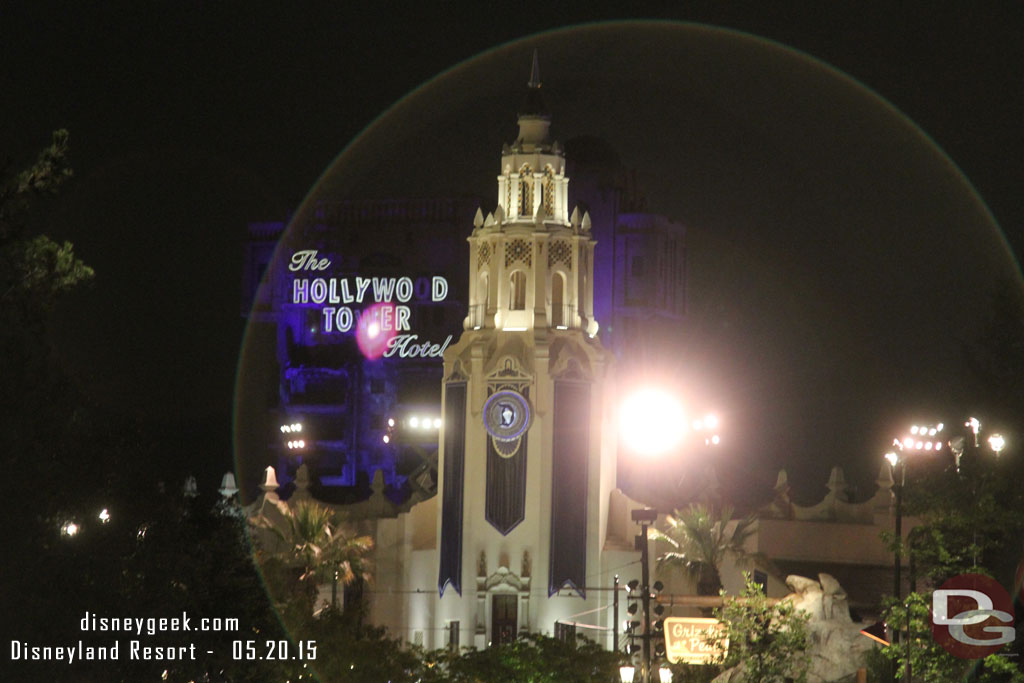
[(645, 456), (656, 456), (679, 442), (686, 418), (675, 396), (659, 389), (644, 389), (623, 402), (618, 426), (631, 449)]

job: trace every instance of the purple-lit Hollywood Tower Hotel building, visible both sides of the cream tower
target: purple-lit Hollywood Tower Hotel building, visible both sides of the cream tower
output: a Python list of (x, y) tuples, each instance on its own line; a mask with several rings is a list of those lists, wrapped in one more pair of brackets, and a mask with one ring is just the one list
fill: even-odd
[[(600, 245), (594, 263), (599, 335), (628, 362), (637, 340), (646, 343), (660, 333), (671, 338), (684, 322), (685, 228), (645, 211), (635, 182), (604, 141), (570, 139), (565, 155), (573, 202), (590, 213)], [(423, 421), (440, 415), (440, 357), (366, 357), (354, 321), (352, 330), (339, 332), (339, 318), (325, 313), (341, 304), (332, 306), (330, 294), (311, 301), (302, 288), (321, 276), (338, 288), (347, 281), (353, 290), (356, 278), (408, 278), (415, 290), (409, 332), (417, 343), (442, 344), (450, 335), (458, 340), (468, 324), (466, 238), (480, 206), (478, 199), (322, 201), (291, 227), (286, 221), (249, 225), (243, 314), (250, 334), (262, 334), (267, 346), (272, 339), (261, 460), (276, 466), (282, 484), (304, 462), (322, 499), (332, 492), (339, 500), (365, 495), (377, 471), (395, 499), (413, 489), (435, 490), (437, 432)], [(315, 251), (330, 266), (290, 270), (291, 255), (301, 251)], [(428, 295), (434, 278), (447, 285), (441, 301)], [(306, 281), (299, 290), (297, 280)], [(301, 431), (292, 425), (302, 425)]]

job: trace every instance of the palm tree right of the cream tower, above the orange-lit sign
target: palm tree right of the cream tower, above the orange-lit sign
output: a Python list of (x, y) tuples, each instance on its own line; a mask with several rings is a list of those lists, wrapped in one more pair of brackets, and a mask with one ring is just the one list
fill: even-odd
[(672, 547), (658, 556), (658, 570), (682, 569), (696, 579), (698, 595), (718, 595), (722, 590), (720, 572), (727, 555), (748, 562), (760, 557), (743, 549), (754, 533), (756, 518), (751, 515), (733, 520), (733, 508), (728, 505), (718, 507), (717, 512), (702, 503), (693, 503), (669, 516), (664, 531), (651, 529), (651, 538)]

